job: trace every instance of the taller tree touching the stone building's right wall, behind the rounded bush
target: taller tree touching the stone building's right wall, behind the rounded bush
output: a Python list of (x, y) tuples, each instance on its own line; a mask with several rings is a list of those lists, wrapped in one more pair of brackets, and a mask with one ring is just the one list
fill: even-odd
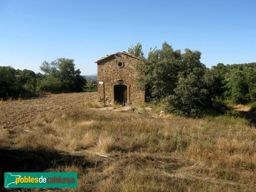
[(174, 93), (180, 72), (186, 74), (194, 68), (205, 68), (200, 58), (199, 51), (185, 49), (182, 54), (180, 49), (174, 50), (164, 42), (162, 49), (151, 49), (148, 58), (137, 64), (137, 70), (142, 74), (137, 78), (138, 87), (146, 91), (148, 100), (165, 99)]

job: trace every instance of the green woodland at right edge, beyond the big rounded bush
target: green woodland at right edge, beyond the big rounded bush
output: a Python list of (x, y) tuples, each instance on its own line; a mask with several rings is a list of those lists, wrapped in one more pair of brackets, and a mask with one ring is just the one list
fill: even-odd
[(212, 67), (218, 96), (235, 103), (256, 101), (256, 63)]

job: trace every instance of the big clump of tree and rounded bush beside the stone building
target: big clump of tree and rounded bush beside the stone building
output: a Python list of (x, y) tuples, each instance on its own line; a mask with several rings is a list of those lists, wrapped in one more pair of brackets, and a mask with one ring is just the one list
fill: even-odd
[[(151, 49), (148, 58), (137, 64), (140, 90), (148, 101), (167, 102), (166, 111), (196, 117), (212, 105), (213, 73), (200, 61), (201, 52), (174, 50), (163, 43), (162, 49)], [(145, 76), (144, 76), (145, 74)]]

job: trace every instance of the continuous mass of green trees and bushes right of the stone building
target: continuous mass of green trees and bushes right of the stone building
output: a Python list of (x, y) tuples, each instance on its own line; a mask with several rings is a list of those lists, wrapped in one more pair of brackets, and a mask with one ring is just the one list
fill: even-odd
[(256, 63), (218, 64), (211, 69), (201, 63), (201, 52), (174, 50), (164, 42), (162, 49), (150, 49), (147, 58), (142, 45), (128, 48), (142, 59), (137, 64), (137, 84), (147, 101), (167, 103), (166, 111), (189, 117), (205, 111), (225, 113), (223, 102), (246, 104), (256, 101)]

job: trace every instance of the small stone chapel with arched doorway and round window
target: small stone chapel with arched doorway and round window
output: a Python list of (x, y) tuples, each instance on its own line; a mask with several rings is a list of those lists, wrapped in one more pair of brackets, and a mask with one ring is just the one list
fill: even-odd
[(137, 90), (135, 82), (137, 76), (135, 66), (139, 60), (140, 57), (123, 51), (95, 61), (98, 69), (99, 102), (104, 102), (104, 89), (106, 105), (112, 105), (114, 102), (121, 105), (137, 105), (145, 102), (145, 93)]

